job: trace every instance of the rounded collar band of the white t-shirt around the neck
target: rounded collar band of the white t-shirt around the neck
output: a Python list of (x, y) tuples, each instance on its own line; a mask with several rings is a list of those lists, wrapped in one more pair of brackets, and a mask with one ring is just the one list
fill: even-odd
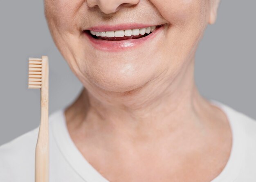
[[(231, 107), (213, 99), (210, 99), (209, 101), (226, 114), (232, 132), (232, 147), (229, 159), (224, 169), (216, 178), (211, 180), (211, 182), (233, 182), (236, 180), (238, 171), (240, 170), (244, 149), (242, 146), (243, 136), (241, 136), (242, 133), (239, 132), (239, 125), (237, 124), (238, 119), (235, 117), (235, 111)], [(54, 134), (56, 145), (74, 171), (76, 171), (76, 173), (86, 182), (110, 182), (83, 157), (74, 144), (67, 130), (65, 108), (58, 110), (56, 114), (53, 115), (56, 116), (56, 121), (52, 122), (52, 132)], [(54, 117), (52, 117), (52, 119), (54, 120)]]

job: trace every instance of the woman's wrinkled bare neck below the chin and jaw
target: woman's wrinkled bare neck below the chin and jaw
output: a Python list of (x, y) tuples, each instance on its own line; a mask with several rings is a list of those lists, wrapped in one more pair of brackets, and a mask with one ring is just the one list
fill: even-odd
[(83, 89), (65, 112), (67, 124), (98, 133), (128, 134), (129, 138), (200, 130), (210, 106), (195, 86), (193, 65), (190, 61), (173, 78), (159, 75), (129, 92)]

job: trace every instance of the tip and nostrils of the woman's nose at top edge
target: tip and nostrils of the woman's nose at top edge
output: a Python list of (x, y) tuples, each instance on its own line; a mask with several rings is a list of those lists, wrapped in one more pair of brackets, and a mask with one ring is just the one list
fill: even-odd
[(98, 5), (99, 9), (103, 13), (114, 13), (117, 11), (121, 4), (134, 5), (138, 4), (140, 0), (87, 0), (89, 7), (94, 7)]

